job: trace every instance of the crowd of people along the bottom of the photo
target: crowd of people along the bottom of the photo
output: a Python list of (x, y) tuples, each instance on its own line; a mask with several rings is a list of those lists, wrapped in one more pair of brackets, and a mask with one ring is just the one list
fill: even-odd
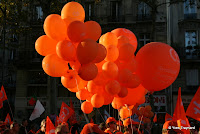
[[(58, 124), (55, 128), (55, 134), (179, 134), (180, 130), (174, 130), (172, 121), (167, 121), (164, 125), (151, 123), (139, 123), (128, 118), (117, 121), (114, 117), (109, 117), (106, 122), (100, 124), (88, 123), (83, 128), (77, 122), (68, 125), (68, 123)], [(170, 127), (169, 127), (170, 126)], [(19, 124), (13, 121), (11, 125), (0, 122), (0, 134), (45, 134), (46, 119), (43, 119), (38, 130), (35, 124), (28, 124), (28, 120), (23, 119)], [(48, 133), (50, 134), (50, 133)], [(53, 134), (53, 133), (52, 133)], [(190, 130), (190, 134), (200, 134), (199, 127)]]

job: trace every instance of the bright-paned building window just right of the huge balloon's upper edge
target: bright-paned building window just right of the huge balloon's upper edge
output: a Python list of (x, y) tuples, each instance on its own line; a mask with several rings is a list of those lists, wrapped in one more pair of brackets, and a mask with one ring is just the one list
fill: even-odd
[(185, 32), (186, 53), (191, 54), (194, 51), (195, 46), (197, 46), (197, 32), (196, 31), (186, 31)]

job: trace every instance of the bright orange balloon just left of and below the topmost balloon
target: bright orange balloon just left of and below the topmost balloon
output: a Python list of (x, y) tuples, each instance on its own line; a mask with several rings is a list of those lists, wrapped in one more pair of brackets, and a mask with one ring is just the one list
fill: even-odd
[(54, 40), (60, 41), (67, 39), (67, 27), (64, 20), (58, 14), (51, 14), (44, 21), (44, 32)]

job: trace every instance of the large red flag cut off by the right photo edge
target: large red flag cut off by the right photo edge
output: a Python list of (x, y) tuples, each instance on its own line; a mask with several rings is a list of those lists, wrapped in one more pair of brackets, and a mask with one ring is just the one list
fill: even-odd
[(187, 108), (186, 115), (200, 121), (200, 87)]

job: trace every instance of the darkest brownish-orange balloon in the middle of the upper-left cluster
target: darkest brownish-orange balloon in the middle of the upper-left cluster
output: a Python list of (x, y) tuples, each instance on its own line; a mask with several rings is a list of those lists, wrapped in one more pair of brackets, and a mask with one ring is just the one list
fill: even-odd
[(80, 42), (76, 55), (81, 64), (87, 64), (97, 57), (98, 53), (98, 44), (92, 39), (85, 39), (84, 41)]

